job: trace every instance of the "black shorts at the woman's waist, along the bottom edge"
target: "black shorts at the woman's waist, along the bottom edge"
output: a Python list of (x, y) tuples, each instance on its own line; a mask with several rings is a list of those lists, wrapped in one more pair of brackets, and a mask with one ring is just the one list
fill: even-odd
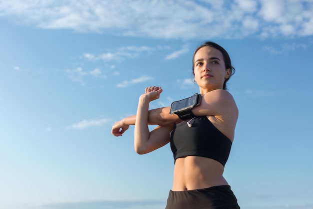
[(169, 191), (165, 209), (240, 209), (229, 185)]

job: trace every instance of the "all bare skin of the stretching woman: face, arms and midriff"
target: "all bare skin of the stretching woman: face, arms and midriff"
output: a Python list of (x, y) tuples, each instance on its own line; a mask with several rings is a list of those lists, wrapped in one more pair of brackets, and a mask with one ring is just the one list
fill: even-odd
[[(206, 116), (212, 124), (230, 141), (234, 138), (234, 128), (238, 109), (230, 95), (222, 90), (230, 70), (225, 69), (220, 51), (211, 47), (200, 48), (194, 56), (194, 78), (202, 95), (200, 105), (192, 109), (196, 116)], [(151, 152), (170, 141), (169, 133), (180, 119), (169, 114), (169, 107), (148, 110), (149, 102), (158, 99), (162, 89), (147, 87), (139, 97), (137, 114), (116, 122), (112, 134), (120, 136), (129, 125), (134, 127), (134, 148), (139, 154)], [(148, 124), (157, 124), (152, 131)], [(210, 158), (186, 156), (176, 159), (173, 173), (173, 191), (207, 188), (227, 185), (223, 177), (223, 166)]]

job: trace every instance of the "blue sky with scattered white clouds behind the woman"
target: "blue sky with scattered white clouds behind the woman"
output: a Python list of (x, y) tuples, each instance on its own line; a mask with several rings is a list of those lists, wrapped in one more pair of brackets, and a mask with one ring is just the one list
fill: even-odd
[[(133, 150), (136, 111), (198, 92), (203, 41), (229, 53), (239, 108), (224, 176), (241, 208), (313, 208), (312, 1), (0, 1), (0, 208), (164, 208), (168, 145)], [(153, 127), (151, 127), (153, 128)]]

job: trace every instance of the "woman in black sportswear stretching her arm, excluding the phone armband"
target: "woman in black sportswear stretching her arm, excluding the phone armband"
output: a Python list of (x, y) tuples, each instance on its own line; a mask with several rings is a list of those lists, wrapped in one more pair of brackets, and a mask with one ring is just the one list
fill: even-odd
[[(170, 107), (148, 110), (162, 89), (147, 87), (139, 97), (137, 114), (116, 122), (112, 134), (121, 136), (134, 124), (134, 147), (139, 154), (151, 152), (168, 142), (175, 166), (166, 209), (239, 208), (223, 177), (238, 118), (234, 99), (226, 89), (233, 75), (228, 53), (213, 42), (199, 46), (192, 59), (192, 74), (201, 100), (181, 120), (169, 114)], [(157, 124), (151, 132), (148, 124)]]

